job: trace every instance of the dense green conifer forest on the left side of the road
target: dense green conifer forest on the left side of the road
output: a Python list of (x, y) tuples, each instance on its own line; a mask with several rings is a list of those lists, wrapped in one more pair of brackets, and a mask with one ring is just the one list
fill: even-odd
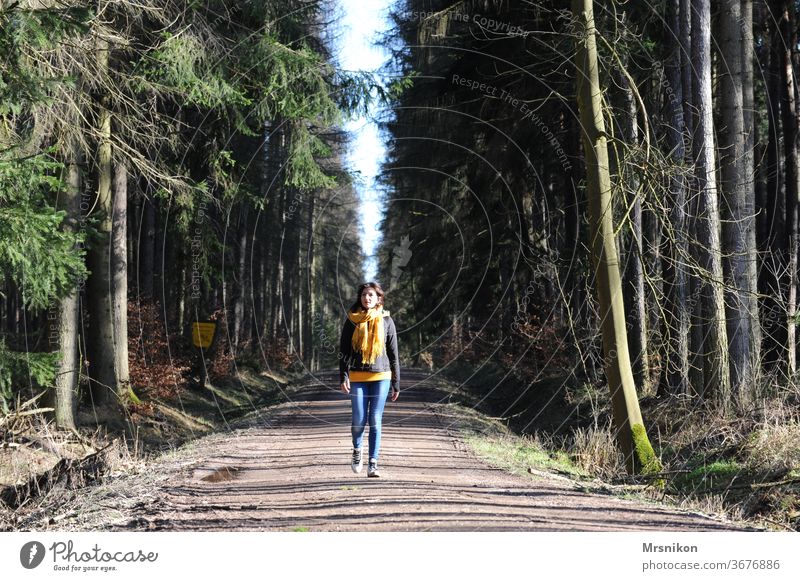
[(322, 281), (353, 287), (363, 262), (340, 127), (370, 79), (331, 66), (333, 15), (0, 8), (4, 409), (35, 385), (59, 425), (79, 402), (118, 422), (143, 392), (186, 383), (194, 321), (218, 323), (204, 367), (219, 373), (245, 355), (313, 365), (312, 327), (340, 316)]

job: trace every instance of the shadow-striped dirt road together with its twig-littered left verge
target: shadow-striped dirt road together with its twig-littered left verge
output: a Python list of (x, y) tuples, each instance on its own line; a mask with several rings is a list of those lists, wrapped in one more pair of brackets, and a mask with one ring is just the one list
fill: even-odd
[(757, 530), (633, 498), (625, 487), (493, 466), (465, 434), (477, 428), (487, 437), (509, 436), (453, 403), (447, 385), (404, 369), (400, 398), (386, 404), (380, 478), (368, 478), (366, 466), (352, 472), (348, 398), (336, 373), (322, 372), (281, 388), (282, 403), (225, 422), (225, 429), (131, 461), (99, 484), (60, 489), (0, 514), (0, 529)]

